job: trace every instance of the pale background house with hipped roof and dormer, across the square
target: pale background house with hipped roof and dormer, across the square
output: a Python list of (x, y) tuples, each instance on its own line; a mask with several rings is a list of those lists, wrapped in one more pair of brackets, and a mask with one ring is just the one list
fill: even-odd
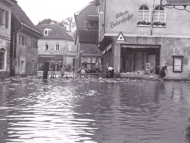
[(38, 28), (43, 33), (43, 37), (38, 41), (39, 70), (43, 70), (47, 61), (74, 67), (76, 51), (73, 37), (57, 23), (42, 24)]

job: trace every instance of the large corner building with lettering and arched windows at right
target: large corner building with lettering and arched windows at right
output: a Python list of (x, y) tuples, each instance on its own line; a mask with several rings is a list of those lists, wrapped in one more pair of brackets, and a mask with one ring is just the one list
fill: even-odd
[[(168, 78), (190, 77), (190, 16), (160, 0), (98, 0), (99, 48), (117, 77), (168, 64)], [(117, 6), (115, 6), (117, 5)], [(183, 8), (183, 7), (179, 7)]]

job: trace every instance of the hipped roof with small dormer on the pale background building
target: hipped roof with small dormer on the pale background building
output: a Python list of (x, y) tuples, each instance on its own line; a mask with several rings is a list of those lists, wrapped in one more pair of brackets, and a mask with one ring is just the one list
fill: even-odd
[(63, 39), (73, 41), (73, 37), (70, 36), (67, 31), (58, 24), (42, 24), (38, 26), (38, 29), (44, 33), (45, 29), (49, 29), (48, 36), (43, 36), (41, 39)]

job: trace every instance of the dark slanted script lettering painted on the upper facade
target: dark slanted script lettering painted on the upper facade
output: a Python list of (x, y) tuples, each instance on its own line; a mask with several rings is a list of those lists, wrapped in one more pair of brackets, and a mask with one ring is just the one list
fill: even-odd
[(130, 14), (128, 10), (115, 14), (116, 20), (111, 22), (111, 28), (114, 28), (120, 24), (123, 24), (133, 18), (133, 14)]

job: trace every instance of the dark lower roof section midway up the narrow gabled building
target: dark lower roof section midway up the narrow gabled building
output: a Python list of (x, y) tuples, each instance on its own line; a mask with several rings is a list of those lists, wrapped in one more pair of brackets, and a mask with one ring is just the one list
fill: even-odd
[(80, 42), (91, 42), (96, 43), (98, 39), (98, 31), (86, 31), (79, 30), (79, 41)]

